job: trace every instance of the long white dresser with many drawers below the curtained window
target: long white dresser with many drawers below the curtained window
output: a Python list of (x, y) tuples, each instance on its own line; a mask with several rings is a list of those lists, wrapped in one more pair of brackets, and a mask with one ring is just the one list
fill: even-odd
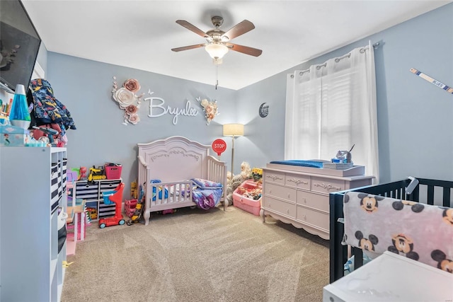
[(291, 223), (329, 239), (329, 194), (371, 185), (374, 176), (363, 175), (360, 165), (347, 170), (268, 163), (263, 168), (261, 216)]

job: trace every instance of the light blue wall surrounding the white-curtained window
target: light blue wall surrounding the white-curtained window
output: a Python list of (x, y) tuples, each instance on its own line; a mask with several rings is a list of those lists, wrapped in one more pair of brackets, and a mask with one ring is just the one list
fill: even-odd
[[(286, 75), (371, 40), (372, 44), (380, 42), (374, 52), (380, 182), (410, 175), (453, 180), (453, 95), (409, 71), (418, 69), (453, 86), (452, 16), (453, 4), (442, 6), (243, 88), (239, 91), (239, 117), (253, 122), (247, 125), (251, 137), (237, 140), (235, 154), (253, 165), (283, 159)], [(270, 104), (265, 119), (256, 117), (262, 102)]]

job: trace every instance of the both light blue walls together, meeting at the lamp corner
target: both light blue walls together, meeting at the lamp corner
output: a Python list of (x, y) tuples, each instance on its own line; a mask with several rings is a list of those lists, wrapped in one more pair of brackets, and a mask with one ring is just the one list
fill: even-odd
[[(122, 163), (122, 177), (129, 185), (137, 175), (137, 143), (181, 135), (211, 144), (222, 137), (222, 124), (227, 122), (246, 124), (245, 137), (235, 141), (235, 170), (241, 161), (263, 166), (282, 159), (286, 74), (338, 57), (371, 40), (380, 42), (375, 50), (380, 182), (408, 175), (453, 180), (453, 95), (409, 71), (419, 69), (453, 86), (451, 16), (453, 4), (448, 4), (239, 91), (216, 91), (214, 86), (49, 52), (47, 79), (78, 127), (68, 132), (69, 165)], [(198, 96), (216, 99), (220, 115), (210, 126), (201, 116), (179, 117), (173, 125), (170, 116), (147, 117), (144, 104), (142, 121), (124, 126), (122, 110), (111, 99), (113, 76), (119, 82), (138, 79), (142, 91), (151, 89), (172, 107), (182, 108), (186, 99), (197, 106)], [(259, 117), (261, 103), (269, 105), (268, 117)], [(231, 144), (231, 139), (224, 139)], [(229, 162), (229, 152), (227, 149), (221, 159)]]

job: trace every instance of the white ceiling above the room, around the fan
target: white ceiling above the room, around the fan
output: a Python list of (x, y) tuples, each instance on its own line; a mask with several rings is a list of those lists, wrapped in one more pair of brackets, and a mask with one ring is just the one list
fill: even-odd
[[(3, 1), (3, 0), (2, 0)], [(239, 89), (452, 1), (42, 1), (22, 0), (47, 50), (158, 74), (215, 84), (200, 30), (222, 16), (226, 31), (247, 19), (255, 29), (231, 42), (263, 50), (230, 51), (219, 86)], [(376, 42), (376, 41), (372, 41)]]

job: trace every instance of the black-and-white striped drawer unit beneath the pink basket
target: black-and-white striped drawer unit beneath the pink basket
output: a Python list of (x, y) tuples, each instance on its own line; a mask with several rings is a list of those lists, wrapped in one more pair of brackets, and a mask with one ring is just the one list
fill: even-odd
[(97, 219), (115, 215), (115, 204), (104, 204), (103, 192), (115, 190), (122, 179), (117, 180), (78, 180), (74, 185), (73, 201), (84, 199), (86, 207), (96, 209)]

